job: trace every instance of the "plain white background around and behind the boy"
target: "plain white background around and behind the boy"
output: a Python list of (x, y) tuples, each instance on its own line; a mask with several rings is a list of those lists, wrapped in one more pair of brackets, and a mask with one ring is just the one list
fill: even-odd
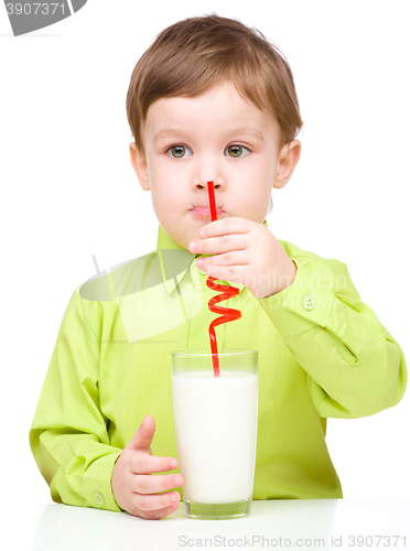
[[(205, 11), (204, 11), (205, 9)], [(129, 162), (132, 69), (165, 26), (215, 11), (287, 56), (304, 130), (290, 183), (273, 191), (279, 239), (345, 262), (410, 357), (409, 3), (89, 0), (13, 37), (0, 6), (2, 494), (51, 503), (29, 430), (74, 289), (155, 248), (150, 194)], [(410, 497), (410, 393), (395, 408), (328, 420), (346, 498)], [(26, 501), (25, 501), (26, 503)]]

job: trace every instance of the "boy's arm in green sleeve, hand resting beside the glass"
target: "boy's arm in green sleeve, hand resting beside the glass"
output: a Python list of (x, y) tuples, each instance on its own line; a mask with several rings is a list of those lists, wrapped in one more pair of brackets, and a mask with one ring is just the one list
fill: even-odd
[[(177, 466), (174, 457), (152, 455), (153, 418), (123, 450), (110, 445), (99, 407), (100, 342), (87, 322), (78, 289), (58, 332), (30, 432), (39, 468), (54, 501), (159, 519), (179, 507), (180, 474), (152, 476)], [(96, 322), (96, 320), (95, 320)]]

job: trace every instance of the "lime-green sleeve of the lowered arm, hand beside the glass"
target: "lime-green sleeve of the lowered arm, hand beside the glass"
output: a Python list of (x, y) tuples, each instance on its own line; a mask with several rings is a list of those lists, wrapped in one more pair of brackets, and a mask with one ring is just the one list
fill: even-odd
[(73, 293), (30, 431), (30, 446), (54, 501), (120, 511), (111, 489), (122, 450), (110, 445), (99, 408), (100, 343)]

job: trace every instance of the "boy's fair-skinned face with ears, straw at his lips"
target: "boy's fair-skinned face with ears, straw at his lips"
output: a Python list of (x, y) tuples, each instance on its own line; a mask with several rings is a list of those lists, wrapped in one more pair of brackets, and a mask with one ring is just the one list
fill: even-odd
[(262, 224), (272, 187), (283, 187), (300, 156), (293, 140), (278, 152), (276, 119), (224, 82), (201, 96), (161, 98), (147, 114), (144, 155), (130, 144), (141, 186), (151, 190), (158, 220), (187, 249), (211, 223), (207, 181), (215, 186), (218, 219)]

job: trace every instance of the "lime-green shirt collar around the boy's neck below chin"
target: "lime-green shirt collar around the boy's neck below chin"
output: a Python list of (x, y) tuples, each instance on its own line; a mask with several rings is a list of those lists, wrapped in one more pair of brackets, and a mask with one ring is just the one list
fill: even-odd
[[(263, 222), (263, 226), (268, 227), (267, 220)], [(181, 247), (165, 233), (161, 225), (159, 226), (153, 262), (169, 294), (174, 291), (190, 267), (193, 281), (198, 281), (199, 272), (195, 258), (203, 256), (206, 255), (193, 255), (188, 249)], [(238, 288), (239, 292), (245, 287), (242, 283), (229, 283), (228, 281), (226, 283)]]

